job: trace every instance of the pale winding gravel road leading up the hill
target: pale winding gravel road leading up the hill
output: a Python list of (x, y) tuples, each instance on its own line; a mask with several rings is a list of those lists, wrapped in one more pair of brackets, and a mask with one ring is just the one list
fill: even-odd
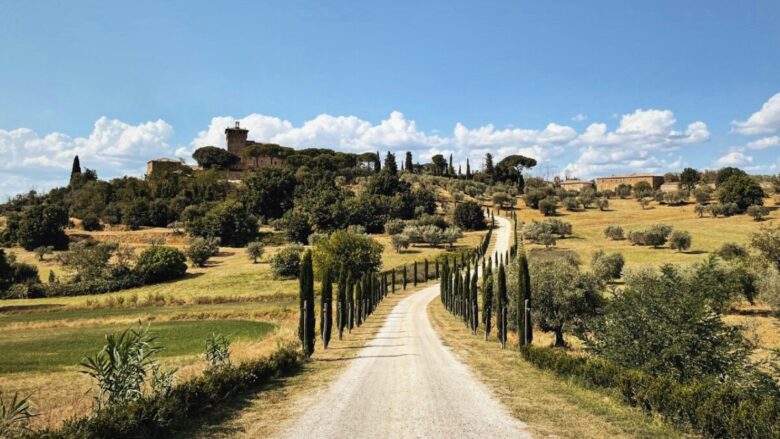
[[(496, 252), (509, 221), (496, 218)], [(442, 344), (428, 320), (439, 284), (402, 300), (284, 438), (530, 438), (524, 424)]]

